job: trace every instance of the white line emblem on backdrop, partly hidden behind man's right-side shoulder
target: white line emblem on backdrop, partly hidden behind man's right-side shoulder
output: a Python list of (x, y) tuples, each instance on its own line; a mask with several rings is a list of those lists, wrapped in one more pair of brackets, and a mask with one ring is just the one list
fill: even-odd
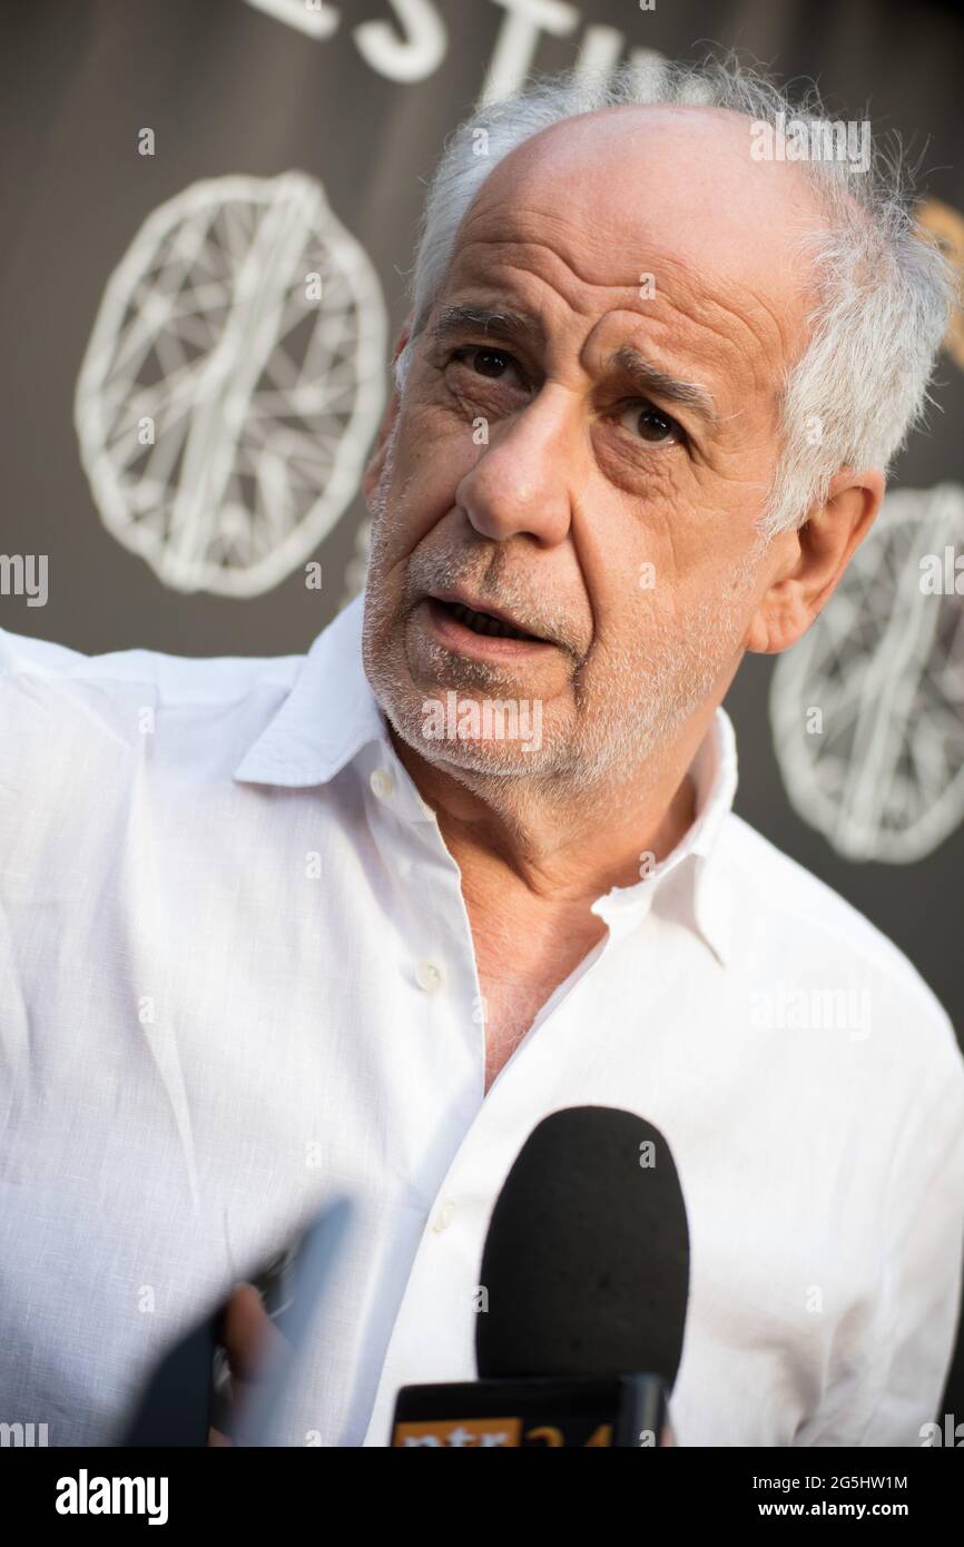
[(922, 588), (922, 560), (947, 577), (962, 537), (959, 484), (887, 495), (826, 610), (774, 671), (788, 795), (845, 859), (913, 863), (964, 818), (964, 596), (953, 579)]

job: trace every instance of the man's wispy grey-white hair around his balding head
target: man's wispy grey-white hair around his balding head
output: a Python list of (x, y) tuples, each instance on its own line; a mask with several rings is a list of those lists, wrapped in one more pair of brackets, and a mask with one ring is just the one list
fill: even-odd
[[(814, 88), (792, 101), (732, 56), (698, 65), (656, 56), (655, 63), (624, 65), (605, 77), (571, 71), (480, 107), (450, 138), (429, 187), (410, 277), (413, 330), (395, 367), (399, 391), (461, 221), (494, 167), (568, 118), (656, 104), (724, 108), (771, 130), (803, 122), (815, 145), (828, 144), (820, 136), (831, 125)], [(803, 244), (817, 302), (808, 343), (785, 373), (781, 455), (760, 523), (764, 538), (803, 524), (811, 506), (826, 500), (839, 469), (888, 472), (930, 401), (927, 387), (955, 295), (950, 265), (914, 227), (910, 173), (896, 141), (887, 150), (874, 145), (859, 175), (832, 153), (800, 166), (823, 217)]]

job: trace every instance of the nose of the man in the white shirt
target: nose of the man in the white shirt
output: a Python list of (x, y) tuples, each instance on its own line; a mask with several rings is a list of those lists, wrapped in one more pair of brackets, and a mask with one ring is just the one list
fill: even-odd
[(559, 384), (542, 391), (492, 439), (461, 480), (455, 503), (477, 532), (494, 541), (526, 534), (542, 546), (565, 540), (579, 481), (579, 435), (573, 394)]

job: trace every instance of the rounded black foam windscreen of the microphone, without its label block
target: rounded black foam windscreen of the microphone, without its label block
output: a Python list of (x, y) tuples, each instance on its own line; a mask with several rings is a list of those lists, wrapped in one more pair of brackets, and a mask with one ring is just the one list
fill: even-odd
[(659, 1129), (610, 1106), (552, 1112), (492, 1211), (480, 1378), (641, 1372), (672, 1388), (689, 1276), (685, 1205)]

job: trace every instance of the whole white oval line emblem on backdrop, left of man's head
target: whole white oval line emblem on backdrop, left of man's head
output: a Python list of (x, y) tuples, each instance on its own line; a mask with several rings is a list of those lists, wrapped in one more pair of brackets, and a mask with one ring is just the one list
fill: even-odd
[(385, 340), (378, 275), (317, 179), (190, 184), (107, 282), (77, 379), (104, 524), (173, 589), (268, 591), (356, 493)]

